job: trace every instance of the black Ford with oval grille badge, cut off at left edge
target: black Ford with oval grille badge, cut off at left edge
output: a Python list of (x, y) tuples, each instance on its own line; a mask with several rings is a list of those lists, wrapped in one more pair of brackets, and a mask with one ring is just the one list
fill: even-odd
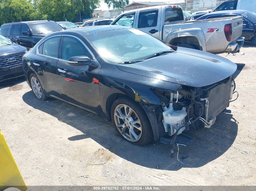
[(23, 46), (0, 35), (0, 83), (24, 76), (22, 56), (27, 52)]

